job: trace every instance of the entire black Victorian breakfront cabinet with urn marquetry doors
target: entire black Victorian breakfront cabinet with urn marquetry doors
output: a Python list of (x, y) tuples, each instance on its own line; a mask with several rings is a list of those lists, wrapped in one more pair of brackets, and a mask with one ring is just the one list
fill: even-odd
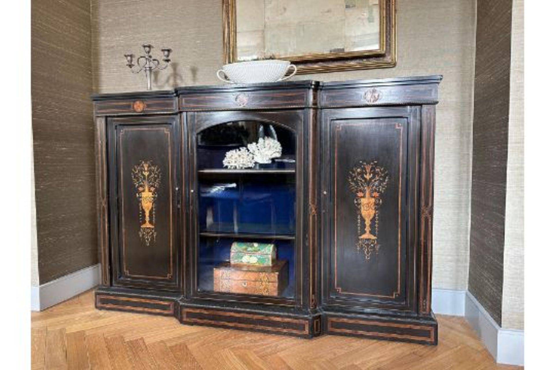
[(94, 95), (97, 308), (436, 344), (440, 80)]

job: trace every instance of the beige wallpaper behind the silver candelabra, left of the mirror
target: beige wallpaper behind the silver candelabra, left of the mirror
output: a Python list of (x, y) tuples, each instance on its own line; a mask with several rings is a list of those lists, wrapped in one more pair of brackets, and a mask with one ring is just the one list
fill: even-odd
[(215, 84), (222, 64), (221, 0), (92, 0), (94, 89), (98, 93), (145, 90), (123, 54), (143, 54), (144, 43), (173, 49), (170, 67), (154, 73), (153, 90)]

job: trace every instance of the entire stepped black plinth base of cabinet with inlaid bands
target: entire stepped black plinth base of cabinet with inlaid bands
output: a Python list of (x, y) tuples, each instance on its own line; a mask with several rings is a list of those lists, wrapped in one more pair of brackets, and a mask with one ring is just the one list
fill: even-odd
[(312, 338), (321, 334), (437, 345), (437, 321), (429, 317), (358, 315), (345, 312), (279, 312), (205, 306), (175, 293), (101, 287), (95, 291), (99, 310), (174, 316), (185, 325), (284, 334)]

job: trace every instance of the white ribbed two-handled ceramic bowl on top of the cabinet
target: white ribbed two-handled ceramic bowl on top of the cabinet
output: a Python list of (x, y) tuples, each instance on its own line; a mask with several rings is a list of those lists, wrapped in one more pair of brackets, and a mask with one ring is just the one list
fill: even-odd
[[(285, 77), (289, 69), (292, 73)], [(269, 59), (226, 64), (216, 72), (216, 76), (229, 84), (249, 84), (284, 81), (296, 72), (297, 67), (288, 60)]]

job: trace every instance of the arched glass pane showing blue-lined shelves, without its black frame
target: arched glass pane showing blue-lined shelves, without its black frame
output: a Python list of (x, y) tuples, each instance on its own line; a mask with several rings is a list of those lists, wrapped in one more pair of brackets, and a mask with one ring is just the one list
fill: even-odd
[(238, 120), (194, 141), (196, 292), (293, 298), (295, 131)]

